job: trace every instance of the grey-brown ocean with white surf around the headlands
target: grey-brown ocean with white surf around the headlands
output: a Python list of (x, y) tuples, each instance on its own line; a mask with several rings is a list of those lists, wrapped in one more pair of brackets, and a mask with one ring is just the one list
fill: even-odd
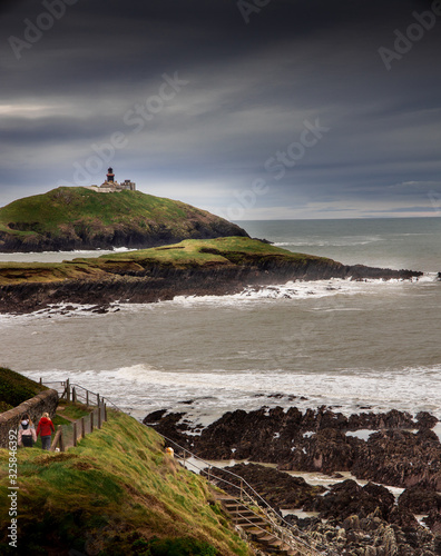
[[(242, 221), (252, 237), (343, 264), (409, 268), (413, 281), (288, 282), (61, 315), (0, 316), (0, 365), (99, 391), (143, 419), (207, 424), (227, 410), (326, 405), (441, 419), (441, 219)], [(89, 254), (96, 256), (96, 252)], [(87, 254), (1, 255), (62, 260)]]

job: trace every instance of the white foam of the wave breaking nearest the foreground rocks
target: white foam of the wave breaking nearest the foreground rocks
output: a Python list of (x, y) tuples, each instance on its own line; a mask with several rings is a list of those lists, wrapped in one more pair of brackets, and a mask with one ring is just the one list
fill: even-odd
[[(28, 371), (33, 379), (65, 380), (70, 377), (94, 391), (109, 397), (122, 409), (143, 418), (156, 409), (185, 411), (195, 420), (208, 424), (225, 411), (262, 406), (302, 410), (326, 405), (350, 415), (392, 408), (416, 415), (427, 410), (441, 419), (441, 366), (375, 371), (339, 373), (169, 371), (148, 365), (112, 370)], [(192, 404), (188, 401), (192, 400)], [(366, 409), (370, 408), (370, 409)]]

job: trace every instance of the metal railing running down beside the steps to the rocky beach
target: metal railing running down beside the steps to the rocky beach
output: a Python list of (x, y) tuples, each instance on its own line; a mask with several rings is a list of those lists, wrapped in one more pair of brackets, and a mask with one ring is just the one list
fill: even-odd
[[(284, 545), (290, 546), (297, 550), (301, 556), (339, 556), (337, 553), (323, 549), (318, 544), (313, 543), (310, 538), (300, 538), (301, 535), (306, 537), (301, 533), (295, 526), (286, 522), (282, 516), (280, 516), (272, 506), (239, 475), (231, 471), (229, 469), (222, 469), (205, 461), (198, 456), (192, 454), (187, 448), (179, 446), (175, 440), (160, 435), (165, 440), (167, 440), (175, 451), (175, 456), (180, 460), (182, 465), (187, 469), (194, 467), (199, 471), (200, 475), (206, 476), (206, 478), (214, 485), (227, 485), (237, 490), (237, 502), (243, 505), (258, 506), (259, 509), (265, 515), (265, 520), (271, 528), (271, 533), (278, 537)], [(189, 460), (189, 457), (190, 460)], [(200, 465), (197, 465), (200, 464)], [(232, 477), (232, 480), (227, 480), (224, 477), (216, 475), (216, 471), (222, 471)], [(238, 481), (238, 485), (233, 480), (233, 477)], [(251, 508), (249, 508), (251, 509)], [(253, 510), (252, 510), (253, 512)], [(257, 514), (255, 514), (257, 515)], [(262, 516), (259, 516), (262, 517)]]

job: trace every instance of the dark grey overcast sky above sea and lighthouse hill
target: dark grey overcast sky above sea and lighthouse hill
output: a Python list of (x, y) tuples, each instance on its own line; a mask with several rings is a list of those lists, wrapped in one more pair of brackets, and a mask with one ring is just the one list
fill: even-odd
[(1, 6), (0, 206), (112, 166), (232, 220), (441, 209), (440, 0)]

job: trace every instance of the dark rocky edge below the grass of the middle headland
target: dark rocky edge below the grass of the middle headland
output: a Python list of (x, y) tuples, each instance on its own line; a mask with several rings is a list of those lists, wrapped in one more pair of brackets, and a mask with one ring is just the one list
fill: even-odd
[[(57, 304), (98, 305), (106, 308), (116, 301), (147, 304), (170, 300), (175, 296), (233, 295), (246, 287), (259, 288), (290, 280), (409, 280), (423, 275), (412, 270), (346, 266), (318, 258), (296, 264), (277, 256), (249, 258), (241, 264), (214, 262), (184, 268), (156, 264), (134, 269), (133, 264), (107, 264), (100, 271), (105, 272), (102, 278), (58, 281), (37, 281), (32, 278), (31, 281), (1, 285), (0, 312), (32, 312)], [(19, 269), (18, 272), (24, 276), (26, 269)]]

